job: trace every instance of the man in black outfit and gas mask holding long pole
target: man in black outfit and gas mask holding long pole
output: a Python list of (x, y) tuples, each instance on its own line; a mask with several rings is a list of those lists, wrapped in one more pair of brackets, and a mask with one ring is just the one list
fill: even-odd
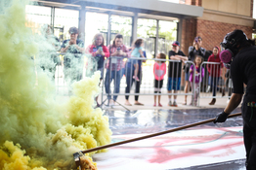
[(243, 140), (246, 150), (246, 169), (256, 169), (256, 47), (241, 30), (228, 33), (221, 43), (225, 51), (220, 58), (231, 67), (234, 93), (225, 110), (217, 115), (216, 122), (224, 122), (239, 105), (243, 96), (243, 84), (247, 85), (241, 112)]

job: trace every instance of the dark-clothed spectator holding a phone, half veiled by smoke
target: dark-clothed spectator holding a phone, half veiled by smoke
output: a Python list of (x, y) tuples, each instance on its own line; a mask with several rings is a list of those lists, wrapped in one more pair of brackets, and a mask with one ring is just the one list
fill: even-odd
[[(83, 58), (84, 42), (77, 39), (78, 29), (70, 27), (68, 30), (70, 39), (64, 40), (61, 52), (64, 54), (64, 79), (67, 85), (74, 81), (80, 81), (83, 76)], [(70, 92), (70, 91), (69, 91)]]

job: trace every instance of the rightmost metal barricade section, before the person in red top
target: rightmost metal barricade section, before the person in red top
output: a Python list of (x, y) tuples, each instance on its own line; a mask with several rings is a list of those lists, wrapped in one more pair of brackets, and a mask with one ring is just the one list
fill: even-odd
[(205, 76), (200, 84), (199, 98), (230, 98), (233, 88), (230, 70), (220, 62), (203, 62), (201, 67)]

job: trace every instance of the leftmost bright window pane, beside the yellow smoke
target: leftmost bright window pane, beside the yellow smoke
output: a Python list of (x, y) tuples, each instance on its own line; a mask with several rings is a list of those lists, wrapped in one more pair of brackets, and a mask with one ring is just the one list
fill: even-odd
[(42, 24), (51, 24), (51, 8), (34, 5), (25, 6), (26, 26), (33, 32), (40, 32)]

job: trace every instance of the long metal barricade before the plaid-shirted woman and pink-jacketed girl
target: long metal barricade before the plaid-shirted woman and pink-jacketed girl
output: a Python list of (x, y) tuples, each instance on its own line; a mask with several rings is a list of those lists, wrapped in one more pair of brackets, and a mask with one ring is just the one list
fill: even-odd
[[(113, 60), (113, 61), (112, 61)], [(153, 63), (155, 61), (163, 61), (167, 63), (166, 66), (166, 74), (163, 79), (162, 91), (161, 94), (154, 93), (154, 75), (153, 75)], [(114, 63), (112, 63), (114, 62)], [(142, 71), (138, 72), (139, 82), (133, 78), (135, 63), (142, 62)], [(109, 64), (112, 63), (112, 64)], [(121, 67), (116, 67), (115, 64), (121, 64)], [(183, 67), (180, 64), (180, 67), (176, 67), (178, 69), (176, 72), (172, 71), (172, 76), (176, 80), (177, 93), (170, 92), (167, 90), (167, 82), (168, 82), (168, 64), (171, 63), (171, 69), (175, 69), (175, 65), (181, 63), (180, 60), (170, 60), (170, 59), (155, 59), (155, 58), (123, 58), (123, 57), (110, 57), (105, 61), (105, 65), (107, 66), (104, 73), (103, 85), (102, 86), (102, 102), (104, 101), (104, 96), (107, 96), (108, 99), (116, 100), (119, 95), (193, 95), (192, 91), (185, 93), (184, 90), (181, 90), (181, 83), (178, 83), (178, 79), (182, 80)], [(192, 61), (188, 61), (188, 63), (193, 64)], [(111, 71), (110, 71), (111, 70)], [(178, 73), (181, 73), (181, 77), (178, 78)], [(174, 75), (177, 74), (177, 75)], [(193, 75), (194, 76), (194, 75)], [(113, 81), (112, 81), (113, 80)], [(194, 79), (193, 79), (194, 80)], [(132, 86), (136, 84), (141, 84), (140, 91), (134, 89)], [(158, 83), (159, 84), (159, 83)], [(179, 85), (179, 86), (178, 86)], [(108, 89), (107, 89), (108, 88)], [(105, 100), (106, 101), (106, 100)]]

